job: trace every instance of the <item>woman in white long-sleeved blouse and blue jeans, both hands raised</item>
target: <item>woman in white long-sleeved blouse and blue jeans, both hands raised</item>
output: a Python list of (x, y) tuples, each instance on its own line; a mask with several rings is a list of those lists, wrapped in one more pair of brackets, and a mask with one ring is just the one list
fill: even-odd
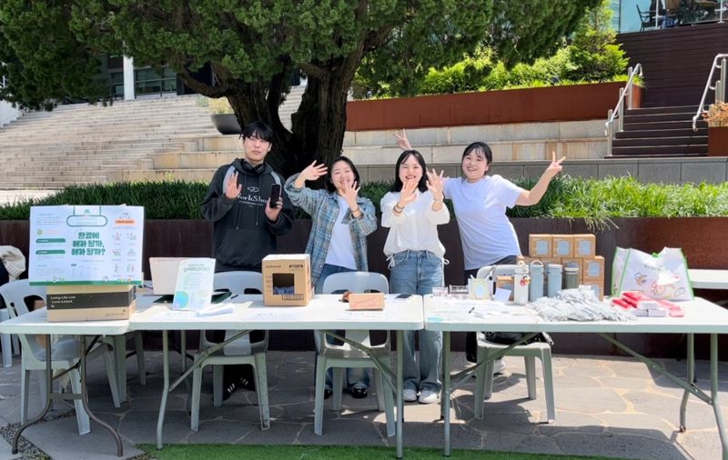
[[(389, 227), (384, 254), (391, 269), (392, 293), (426, 295), (442, 285), (445, 247), (438, 225), (450, 222), (442, 188), (442, 175), (427, 171), (420, 152), (407, 150), (399, 155), (394, 185), (380, 203), (381, 226)], [(419, 334), (419, 360), (415, 360), (414, 331), (404, 334), (404, 400), (417, 401), (419, 391), (421, 404), (437, 403), (442, 386), (442, 334), (425, 330)]]

